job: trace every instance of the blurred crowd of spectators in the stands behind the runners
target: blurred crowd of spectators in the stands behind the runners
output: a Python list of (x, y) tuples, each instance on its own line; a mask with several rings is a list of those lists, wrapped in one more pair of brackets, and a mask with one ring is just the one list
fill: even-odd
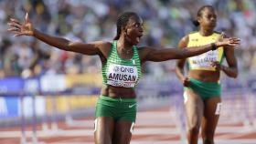
[[(176, 47), (179, 39), (196, 30), (192, 20), (202, 5), (214, 5), (217, 31), (241, 38), (236, 49), (240, 72), (256, 68), (256, 1), (254, 0), (0, 0), (0, 77), (35, 77), (101, 71), (99, 57), (52, 48), (29, 36), (6, 32), (10, 17), (24, 20), (28, 12), (34, 26), (49, 35), (73, 41), (112, 41), (117, 15), (134, 11), (144, 19), (140, 46)], [(174, 71), (175, 61), (146, 63), (144, 73)], [(154, 67), (154, 68), (152, 68)]]

